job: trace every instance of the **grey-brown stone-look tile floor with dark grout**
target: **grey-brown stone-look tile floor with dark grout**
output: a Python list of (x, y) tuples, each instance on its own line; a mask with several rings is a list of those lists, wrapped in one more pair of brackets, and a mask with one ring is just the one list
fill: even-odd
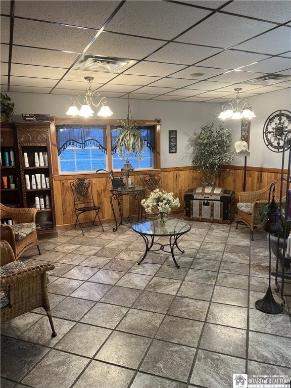
[(179, 269), (162, 251), (137, 265), (144, 243), (130, 224), (62, 230), (40, 241), (41, 256), (26, 251), (27, 264), (55, 265), (58, 335), (42, 309), (2, 324), (1, 387), (231, 388), (233, 373), (291, 377), (291, 298), (277, 315), (254, 305), (268, 285), (266, 232), (250, 241), (235, 222), (190, 224)]

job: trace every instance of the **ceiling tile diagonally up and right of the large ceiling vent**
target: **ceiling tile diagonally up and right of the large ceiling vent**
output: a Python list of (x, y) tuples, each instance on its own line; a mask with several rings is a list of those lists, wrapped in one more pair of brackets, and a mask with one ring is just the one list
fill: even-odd
[(151, 55), (150, 61), (177, 63), (182, 65), (193, 65), (203, 59), (219, 53), (220, 49), (202, 47), (192, 44), (169, 43), (163, 49)]

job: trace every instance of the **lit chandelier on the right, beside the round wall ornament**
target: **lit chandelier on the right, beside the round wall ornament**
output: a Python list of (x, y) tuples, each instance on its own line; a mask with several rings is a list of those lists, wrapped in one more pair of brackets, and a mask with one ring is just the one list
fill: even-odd
[(251, 119), (256, 117), (253, 112), (253, 105), (248, 103), (248, 100), (239, 98), (241, 87), (234, 89), (236, 91), (235, 99), (229, 100), (227, 105), (223, 105), (222, 112), (218, 116), (219, 119)]

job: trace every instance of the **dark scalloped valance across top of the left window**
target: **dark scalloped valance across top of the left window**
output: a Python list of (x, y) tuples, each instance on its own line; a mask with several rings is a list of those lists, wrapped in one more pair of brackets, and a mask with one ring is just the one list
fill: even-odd
[(95, 146), (107, 152), (106, 125), (57, 124), (56, 137), (59, 156), (69, 146), (78, 148)]

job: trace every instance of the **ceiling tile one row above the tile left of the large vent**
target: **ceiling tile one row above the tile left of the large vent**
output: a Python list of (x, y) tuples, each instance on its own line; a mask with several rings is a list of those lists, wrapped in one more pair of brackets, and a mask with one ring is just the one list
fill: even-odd
[(81, 53), (96, 31), (15, 19), (13, 43)]

